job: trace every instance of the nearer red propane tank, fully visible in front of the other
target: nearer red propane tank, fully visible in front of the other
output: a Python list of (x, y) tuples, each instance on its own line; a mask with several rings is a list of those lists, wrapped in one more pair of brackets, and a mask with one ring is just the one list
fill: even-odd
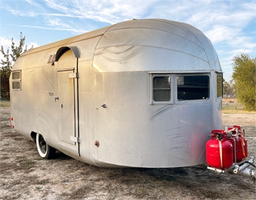
[[(222, 132), (223, 133), (223, 132)], [(224, 135), (222, 135), (224, 136)], [(227, 169), (233, 164), (233, 146), (225, 137), (206, 142), (206, 162), (217, 169)]]

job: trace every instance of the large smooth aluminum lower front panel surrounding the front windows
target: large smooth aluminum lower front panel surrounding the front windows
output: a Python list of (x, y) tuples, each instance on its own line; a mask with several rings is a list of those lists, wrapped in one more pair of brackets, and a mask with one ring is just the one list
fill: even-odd
[(208, 133), (221, 125), (221, 119), (214, 120), (210, 114), (212, 99), (151, 105), (148, 78), (146, 72), (94, 75), (96, 163), (135, 167), (203, 164)]

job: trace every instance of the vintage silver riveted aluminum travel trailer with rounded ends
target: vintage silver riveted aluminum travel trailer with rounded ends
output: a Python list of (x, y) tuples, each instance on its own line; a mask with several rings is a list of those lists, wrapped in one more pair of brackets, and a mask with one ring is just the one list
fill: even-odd
[(97, 166), (206, 163), (222, 128), (222, 69), (210, 40), (186, 23), (129, 20), (37, 47), (10, 76), (11, 126)]

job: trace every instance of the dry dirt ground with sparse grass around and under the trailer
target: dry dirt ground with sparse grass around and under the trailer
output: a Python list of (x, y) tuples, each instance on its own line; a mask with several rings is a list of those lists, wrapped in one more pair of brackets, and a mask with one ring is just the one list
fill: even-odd
[[(57, 153), (42, 160), (34, 142), (10, 128), (10, 108), (0, 108), (1, 199), (255, 199), (249, 177), (215, 174), (206, 166), (175, 169), (99, 168)], [(225, 114), (223, 127), (241, 125), (256, 137), (256, 114)], [(248, 140), (256, 156), (256, 139)]]

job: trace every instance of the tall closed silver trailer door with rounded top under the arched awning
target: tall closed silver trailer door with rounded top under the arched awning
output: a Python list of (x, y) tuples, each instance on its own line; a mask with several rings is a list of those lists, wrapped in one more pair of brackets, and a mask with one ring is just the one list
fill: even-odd
[(62, 150), (79, 155), (78, 133), (78, 61), (71, 50), (67, 50), (57, 63), (59, 104), (59, 145)]

